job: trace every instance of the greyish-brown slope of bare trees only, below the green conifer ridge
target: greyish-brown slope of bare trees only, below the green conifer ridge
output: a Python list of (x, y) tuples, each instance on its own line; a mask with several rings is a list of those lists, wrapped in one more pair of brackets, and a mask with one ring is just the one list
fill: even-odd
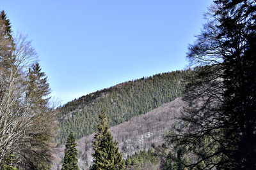
[[(124, 158), (133, 155), (140, 150), (147, 150), (152, 143), (159, 145), (163, 142), (163, 137), (170, 131), (174, 123), (174, 118), (180, 114), (180, 109), (184, 103), (180, 98), (170, 103), (163, 104), (140, 117), (134, 117), (128, 122), (124, 122), (110, 131), (114, 139), (118, 141), (120, 150), (124, 153)], [(77, 140), (77, 150), (79, 152), (79, 168), (88, 169), (92, 164), (92, 140), (94, 134), (85, 136)], [(64, 157), (65, 146), (61, 145), (56, 153), (52, 169), (60, 168), (61, 158)]]

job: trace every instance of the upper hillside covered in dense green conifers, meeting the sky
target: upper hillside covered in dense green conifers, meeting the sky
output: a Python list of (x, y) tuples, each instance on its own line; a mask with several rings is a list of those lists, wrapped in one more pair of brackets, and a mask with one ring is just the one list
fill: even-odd
[(109, 126), (121, 124), (179, 97), (188, 71), (173, 71), (127, 81), (75, 99), (58, 108), (60, 132), (56, 142), (65, 143), (70, 131), (76, 139), (95, 132), (102, 109)]

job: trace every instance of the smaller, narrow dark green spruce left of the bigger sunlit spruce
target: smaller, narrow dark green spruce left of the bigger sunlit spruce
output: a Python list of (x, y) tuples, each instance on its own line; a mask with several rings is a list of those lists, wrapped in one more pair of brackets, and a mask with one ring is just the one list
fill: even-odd
[(78, 170), (76, 141), (72, 132), (70, 132), (65, 145), (65, 157), (61, 170)]

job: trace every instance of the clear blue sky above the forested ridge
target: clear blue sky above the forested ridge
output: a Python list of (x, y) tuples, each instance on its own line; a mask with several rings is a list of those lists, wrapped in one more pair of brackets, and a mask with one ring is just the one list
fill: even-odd
[(1, 0), (28, 34), (61, 104), (117, 83), (184, 69), (210, 0)]

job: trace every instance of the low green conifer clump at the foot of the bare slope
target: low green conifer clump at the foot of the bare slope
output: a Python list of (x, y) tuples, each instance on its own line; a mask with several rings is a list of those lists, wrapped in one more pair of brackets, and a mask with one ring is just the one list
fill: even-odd
[(151, 163), (153, 165), (156, 165), (158, 163), (156, 159), (156, 154), (152, 150), (143, 150), (140, 151), (140, 153), (135, 153), (134, 155), (127, 157), (127, 159), (125, 160), (125, 167), (127, 169), (133, 167), (137, 170), (143, 170), (143, 166), (148, 163)]

